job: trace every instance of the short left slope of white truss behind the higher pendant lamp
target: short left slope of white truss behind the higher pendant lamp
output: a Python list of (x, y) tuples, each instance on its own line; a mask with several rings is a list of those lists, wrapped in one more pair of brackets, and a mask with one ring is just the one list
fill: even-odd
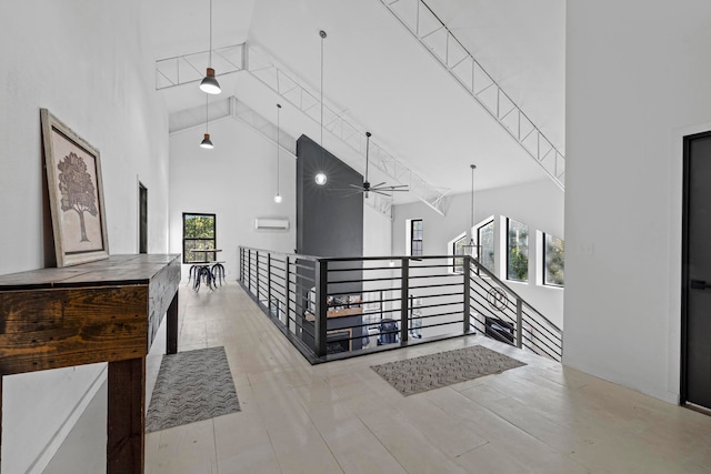
[[(244, 69), (243, 47), (242, 43), (212, 50), (212, 67), (218, 78)], [(201, 81), (204, 78), (209, 53), (209, 51), (200, 51), (156, 61), (156, 89), (174, 88)]]

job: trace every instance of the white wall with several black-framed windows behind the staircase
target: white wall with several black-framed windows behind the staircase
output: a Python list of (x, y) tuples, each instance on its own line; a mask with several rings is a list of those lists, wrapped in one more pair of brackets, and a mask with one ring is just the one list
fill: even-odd
[[(563, 327), (563, 290), (537, 285), (534, 272), (537, 255), (534, 252), (535, 230), (564, 239), (563, 234), (563, 192), (552, 181), (535, 181), (507, 188), (495, 188), (474, 193), (474, 223), (489, 216), (495, 219), (495, 232), (499, 231), (499, 216), (504, 215), (529, 226), (529, 283), (507, 282), (509, 286), (539, 310), (545, 317)], [(425, 255), (449, 255), (448, 242), (462, 232), (469, 232), (471, 225), (471, 193), (454, 194), (447, 215), (442, 216), (427, 204), (415, 202), (395, 206), (392, 231), (393, 254), (405, 253), (405, 221), (422, 219), (423, 253)], [(497, 270), (501, 266), (501, 253), (498, 253)], [(497, 276), (504, 280), (497, 271)], [(505, 276), (505, 275), (504, 275)]]

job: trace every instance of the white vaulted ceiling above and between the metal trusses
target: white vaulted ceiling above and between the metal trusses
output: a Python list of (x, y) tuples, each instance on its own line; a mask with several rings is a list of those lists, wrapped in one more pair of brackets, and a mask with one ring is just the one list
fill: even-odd
[[(247, 41), (318, 94), (319, 30), (324, 30), (326, 104), (372, 132), (373, 142), (431, 185), (468, 192), (470, 163), (478, 165), (477, 189), (547, 179), (383, 1), (392, 2), (212, 0), (213, 48)], [(424, 1), (541, 132), (564, 151), (564, 0)], [(208, 49), (209, 0), (150, 0), (147, 8), (154, 21), (156, 59)], [(279, 97), (248, 72), (220, 78), (220, 83), (222, 99), (236, 95), (261, 115), (274, 117)], [(186, 84), (167, 91), (166, 100), (173, 113), (204, 104), (206, 98), (196, 84)], [(319, 139), (320, 124), (290, 104), (282, 109), (281, 124), (294, 138), (306, 133)], [(344, 151), (329, 133), (323, 142), (362, 172), (362, 157)]]

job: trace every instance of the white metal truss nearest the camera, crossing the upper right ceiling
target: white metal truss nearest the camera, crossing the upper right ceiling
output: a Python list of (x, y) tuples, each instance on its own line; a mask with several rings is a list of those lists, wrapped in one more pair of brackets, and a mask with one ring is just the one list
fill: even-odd
[(565, 189), (565, 157), (499, 87), (422, 0), (380, 0), (545, 173)]

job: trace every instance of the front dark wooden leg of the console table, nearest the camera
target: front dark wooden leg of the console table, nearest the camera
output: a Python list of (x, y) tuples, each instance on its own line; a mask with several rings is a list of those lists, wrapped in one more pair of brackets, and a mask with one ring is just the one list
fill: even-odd
[(146, 357), (109, 362), (107, 474), (142, 474), (146, 457)]

